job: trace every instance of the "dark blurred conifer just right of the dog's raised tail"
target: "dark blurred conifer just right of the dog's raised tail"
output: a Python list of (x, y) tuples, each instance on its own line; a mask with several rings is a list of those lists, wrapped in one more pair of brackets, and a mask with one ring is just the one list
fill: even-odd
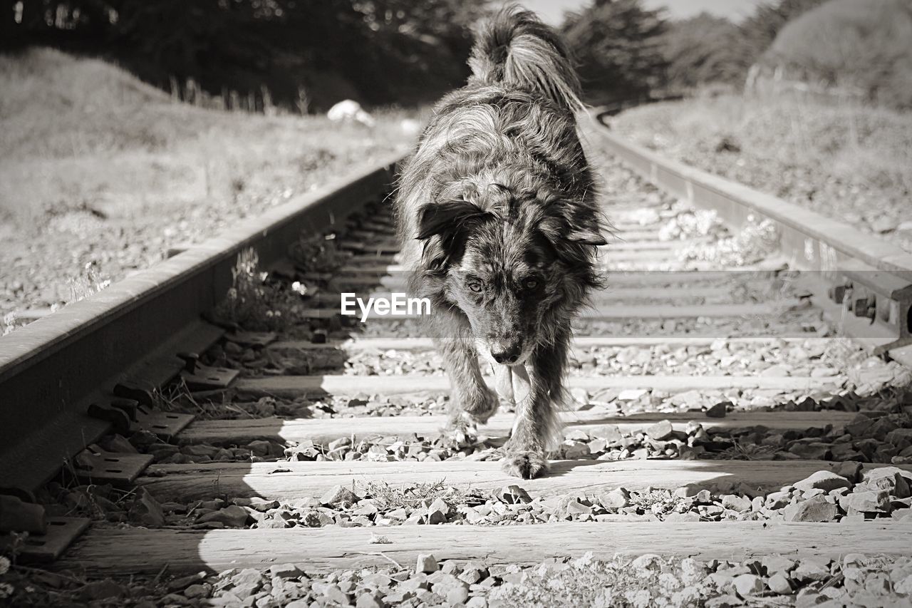
[(568, 13), (563, 29), (590, 102), (634, 100), (662, 86), (666, 21), (658, 10), (640, 0), (596, 0)]

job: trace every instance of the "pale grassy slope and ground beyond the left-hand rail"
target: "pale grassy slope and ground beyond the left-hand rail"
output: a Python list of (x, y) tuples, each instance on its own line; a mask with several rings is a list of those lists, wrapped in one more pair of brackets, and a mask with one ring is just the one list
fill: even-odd
[(71, 294), (73, 281), (117, 280), (406, 152), (417, 113), (371, 113), (373, 128), (209, 110), (100, 60), (0, 55), (0, 319), (76, 299), (89, 289)]

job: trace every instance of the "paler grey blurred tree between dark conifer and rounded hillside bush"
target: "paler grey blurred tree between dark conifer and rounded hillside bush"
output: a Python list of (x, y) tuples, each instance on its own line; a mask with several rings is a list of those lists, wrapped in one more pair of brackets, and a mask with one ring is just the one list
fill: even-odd
[(709, 13), (669, 23), (662, 37), (668, 58), (668, 87), (741, 82), (745, 69), (731, 52), (739, 46), (740, 37), (738, 26)]

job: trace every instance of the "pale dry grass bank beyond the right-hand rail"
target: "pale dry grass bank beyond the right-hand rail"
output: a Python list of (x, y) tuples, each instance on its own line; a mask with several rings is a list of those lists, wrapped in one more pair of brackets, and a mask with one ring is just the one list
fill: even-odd
[(619, 134), (912, 250), (912, 113), (724, 95), (627, 110)]

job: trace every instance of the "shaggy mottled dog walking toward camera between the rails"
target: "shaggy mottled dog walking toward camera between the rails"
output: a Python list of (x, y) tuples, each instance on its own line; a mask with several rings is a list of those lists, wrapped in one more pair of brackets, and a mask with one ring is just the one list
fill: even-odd
[(571, 321), (602, 284), (606, 223), (576, 132), (579, 80), (558, 34), (504, 8), (480, 29), (469, 65), (400, 174), (402, 259), (411, 293), (431, 301), (451, 430), (472, 435), (497, 410), (479, 356), (499, 385), (525, 386), (502, 466), (528, 479), (562, 439)]

